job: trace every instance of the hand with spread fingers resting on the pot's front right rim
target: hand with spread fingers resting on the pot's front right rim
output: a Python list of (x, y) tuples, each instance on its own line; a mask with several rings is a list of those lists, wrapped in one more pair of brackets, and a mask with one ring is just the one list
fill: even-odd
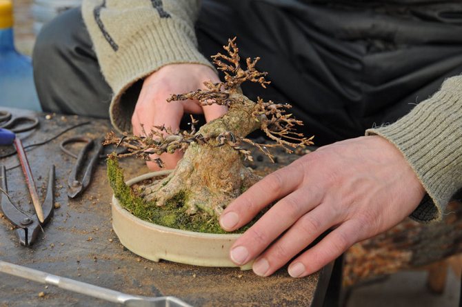
[(280, 199), (230, 250), (238, 265), (257, 258), (253, 270), (261, 276), (271, 275), (333, 228), (288, 267), (292, 277), (305, 277), (352, 244), (398, 224), (424, 194), (392, 143), (379, 136), (358, 137), (321, 147), (263, 178), (223, 211), (220, 224), (236, 230)]

